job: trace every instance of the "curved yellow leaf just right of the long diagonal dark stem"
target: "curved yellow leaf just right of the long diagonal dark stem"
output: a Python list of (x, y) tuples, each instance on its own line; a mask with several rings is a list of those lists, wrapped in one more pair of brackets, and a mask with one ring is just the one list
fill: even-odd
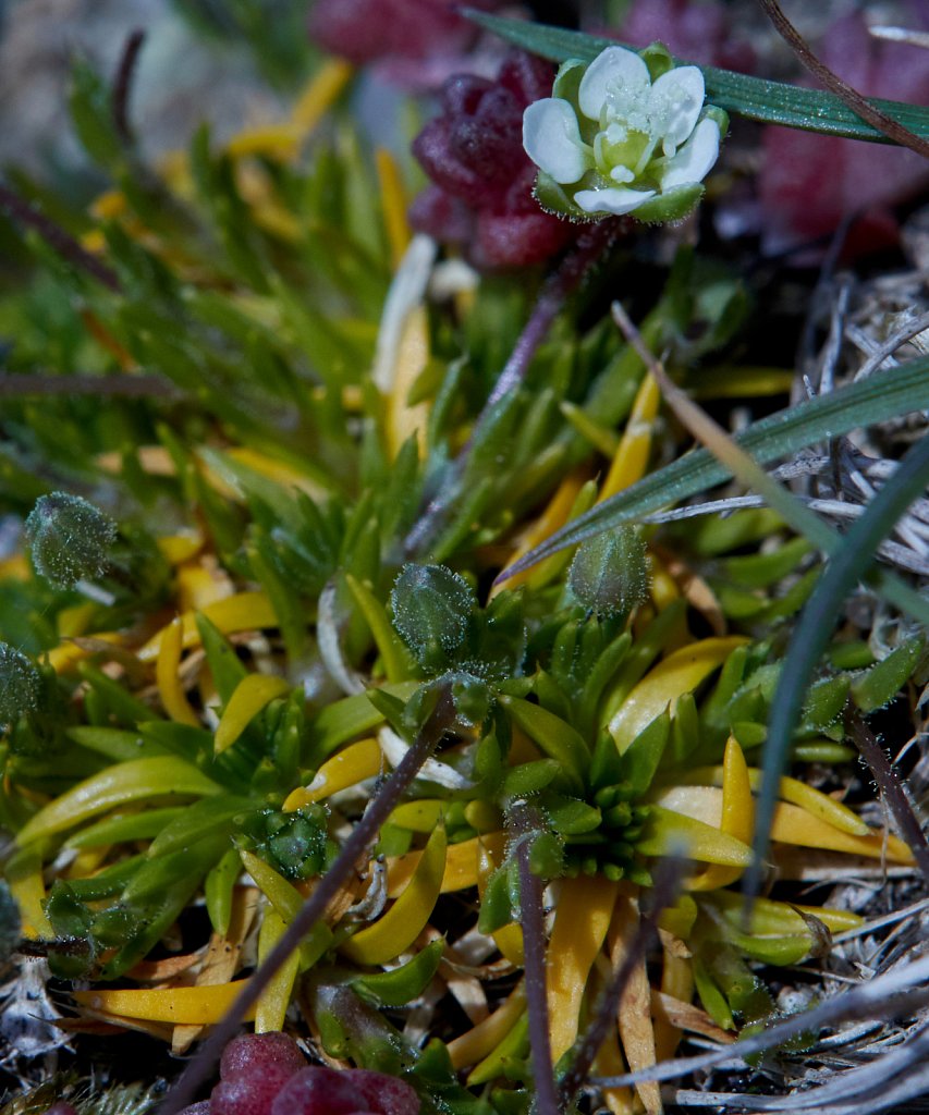
[(442, 890), (445, 827), (439, 825), (423, 850), (408, 885), (372, 925), (359, 930), (341, 951), (359, 964), (385, 964), (406, 951), (423, 932)]

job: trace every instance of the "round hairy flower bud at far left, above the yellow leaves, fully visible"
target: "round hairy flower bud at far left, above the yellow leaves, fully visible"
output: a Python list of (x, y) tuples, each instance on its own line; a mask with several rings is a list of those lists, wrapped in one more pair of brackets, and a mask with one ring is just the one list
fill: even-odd
[(61, 589), (101, 576), (109, 565), (116, 524), (79, 495), (40, 496), (26, 520), (36, 572)]

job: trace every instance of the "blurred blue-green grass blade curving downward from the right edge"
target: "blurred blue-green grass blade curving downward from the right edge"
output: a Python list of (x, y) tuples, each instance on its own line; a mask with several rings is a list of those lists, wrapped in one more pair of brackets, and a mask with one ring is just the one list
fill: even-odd
[(764, 745), (764, 777), (755, 814), (755, 860), (745, 881), (748, 893), (757, 892), (762, 857), (767, 849), (777, 786), (791, 737), (800, 717), (806, 687), (832, 637), (839, 608), (861, 580), (874, 552), (893, 530), (894, 523), (926, 491), (927, 483), (929, 437), (923, 437), (906, 455), (893, 476), (844, 536), (842, 546), (813, 590), (794, 629), (772, 702)]

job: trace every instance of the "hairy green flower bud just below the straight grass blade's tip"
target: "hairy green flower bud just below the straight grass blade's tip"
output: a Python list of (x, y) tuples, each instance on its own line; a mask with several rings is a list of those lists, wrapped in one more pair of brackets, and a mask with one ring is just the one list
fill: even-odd
[(628, 617), (648, 595), (645, 542), (627, 524), (588, 539), (578, 546), (568, 583), (596, 615)]

